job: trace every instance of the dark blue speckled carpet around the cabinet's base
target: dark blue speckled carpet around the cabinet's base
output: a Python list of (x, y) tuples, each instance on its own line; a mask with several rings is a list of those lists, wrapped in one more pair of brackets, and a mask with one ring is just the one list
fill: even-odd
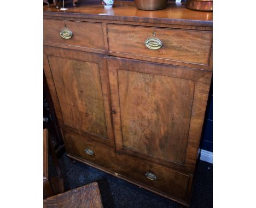
[[(60, 160), (65, 190), (97, 181), (100, 187), (104, 208), (178, 208), (174, 201), (158, 194), (139, 188), (129, 182), (92, 168), (81, 162), (72, 163), (64, 154)], [(55, 175), (53, 161), (49, 157), (49, 176)], [(212, 164), (200, 161), (197, 166), (195, 185), (191, 200), (191, 208), (212, 207)]]

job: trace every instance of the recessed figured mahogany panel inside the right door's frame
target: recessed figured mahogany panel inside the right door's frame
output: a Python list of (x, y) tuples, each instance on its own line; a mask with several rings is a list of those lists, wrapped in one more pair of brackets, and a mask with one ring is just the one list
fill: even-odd
[(118, 81), (124, 148), (184, 163), (194, 82), (126, 70)]

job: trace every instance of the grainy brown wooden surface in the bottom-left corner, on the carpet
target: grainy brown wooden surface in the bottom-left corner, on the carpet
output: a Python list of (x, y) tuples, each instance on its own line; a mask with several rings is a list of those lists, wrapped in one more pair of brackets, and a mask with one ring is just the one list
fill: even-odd
[(72, 189), (44, 199), (44, 208), (102, 208), (98, 183)]

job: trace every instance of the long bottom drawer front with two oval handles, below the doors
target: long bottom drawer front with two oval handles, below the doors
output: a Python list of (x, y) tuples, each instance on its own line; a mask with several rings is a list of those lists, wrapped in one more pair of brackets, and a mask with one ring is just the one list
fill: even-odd
[[(189, 183), (188, 175), (178, 173), (158, 164), (143, 161), (139, 158), (115, 154), (112, 148), (78, 134), (64, 131), (64, 136), (69, 154), (95, 163), (126, 178), (143, 183), (143, 185), (156, 191), (183, 201), (186, 200)], [(152, 180), (154, 176), (156, 180)]]

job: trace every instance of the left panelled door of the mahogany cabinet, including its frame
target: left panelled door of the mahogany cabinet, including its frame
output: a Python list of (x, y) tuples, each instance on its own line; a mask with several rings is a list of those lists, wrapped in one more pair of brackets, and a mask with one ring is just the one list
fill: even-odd
[(113, 145), (102, 55), (44, 46), (44, 71), (61, 127)]

